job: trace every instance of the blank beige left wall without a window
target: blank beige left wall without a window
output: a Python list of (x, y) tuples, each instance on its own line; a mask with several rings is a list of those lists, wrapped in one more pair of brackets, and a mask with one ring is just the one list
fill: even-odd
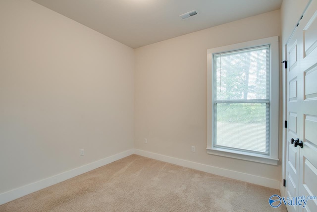
[(0, 193), (133, 148), (133, 98), (133, 49), (0, 0)]

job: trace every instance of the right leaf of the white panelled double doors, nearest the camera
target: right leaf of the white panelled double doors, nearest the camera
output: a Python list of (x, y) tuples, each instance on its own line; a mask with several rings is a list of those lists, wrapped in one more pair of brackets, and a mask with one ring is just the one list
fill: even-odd
[[(303, 40), (299, 75), (302, 79), (299, 194), (317, 196), (317, 0), (306, 10), (300, 28)], [(317, 212), (317, 200), (307, 201), (299, 211)]]

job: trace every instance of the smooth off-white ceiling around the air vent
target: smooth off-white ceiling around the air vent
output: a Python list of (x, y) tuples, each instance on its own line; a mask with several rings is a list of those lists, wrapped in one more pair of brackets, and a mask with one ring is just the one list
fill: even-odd
[[(33, 0), (138, 48), (279, 9), (282, 0)], [(179, 15), (197, 9), (182, 20)]]

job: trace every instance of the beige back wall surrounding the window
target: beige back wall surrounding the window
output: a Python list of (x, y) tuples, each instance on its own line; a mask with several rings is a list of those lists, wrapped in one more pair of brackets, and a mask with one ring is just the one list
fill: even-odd
[(134, 147), (281, 180), (280, 162), (273, 166), (206, 150), (207, 49), (280, 36), (280, 27), (276, 10), (136, 49)]

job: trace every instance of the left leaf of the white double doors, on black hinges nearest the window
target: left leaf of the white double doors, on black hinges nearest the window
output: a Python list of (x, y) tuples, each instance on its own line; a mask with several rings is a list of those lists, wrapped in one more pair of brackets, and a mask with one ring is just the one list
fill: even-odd
[[(287, 45), (287, 119), (288, 128), (286, 136), (286, 193), (290, 199), (298, 196), (299, 193), (299, 151), (294, 146), (295, 141), (300, 141), (300, 77), (298, 73), (299, 59), (301, 57), (299, 49), (301, 40), (297, 30)], [(288, 206), (289, 212), (297, 212), (297, 206)]]

